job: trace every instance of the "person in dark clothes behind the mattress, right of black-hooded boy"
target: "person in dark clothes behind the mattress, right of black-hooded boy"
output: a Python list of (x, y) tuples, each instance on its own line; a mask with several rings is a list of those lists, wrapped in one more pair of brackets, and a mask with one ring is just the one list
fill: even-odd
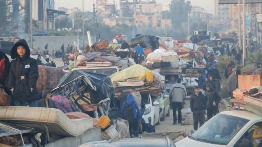
[(38, 107), (55, 108), (54, 102), (50, 99), (50, 89), (44, 89), (42, 91), (42, 99), (38, 101)]

